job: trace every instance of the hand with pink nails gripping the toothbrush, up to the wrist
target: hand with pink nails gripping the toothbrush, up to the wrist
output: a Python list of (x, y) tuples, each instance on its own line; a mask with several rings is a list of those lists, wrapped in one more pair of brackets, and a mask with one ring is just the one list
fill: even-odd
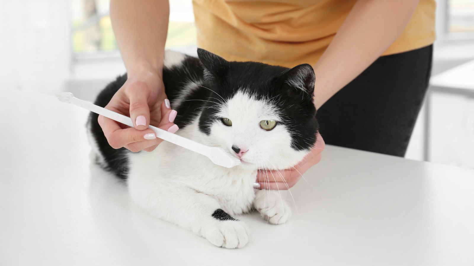
[(148, 125), (172, 133), (178, 130), (173, 124), (176, 111), (171, 110), (169, 101), (164, 101), (164, 85), (161, 77), (153, 72), (138, 72), (128, 80), (112, 97), (105, 108), (130, 116), (134, 127), (118, 123), (99, 115), (99, 124), (114, 149), (125, 147), (130, 151), (153, 151), (163, 140), (156, 138)]

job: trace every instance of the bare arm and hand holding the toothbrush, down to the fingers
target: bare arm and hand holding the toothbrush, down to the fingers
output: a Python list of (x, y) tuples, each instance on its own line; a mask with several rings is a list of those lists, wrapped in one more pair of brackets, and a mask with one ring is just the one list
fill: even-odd
[[(153, 133), (148, 125), (165, 126), (165, 130), (176, 128), (173, 121), (161, 121), (162, 116), (168, 119), (172, 112), (170, 108), (162, 109), (166, 98), (162, 71), (169, 2), (111, 0), (110, 18), (128, 79), (105, 108), (130, 116), (135, 126), (126, 128), (101, 115), (99, 124), (112, 147), (153, 151), (162, 140), (144, 138), (145, 134)], [(162, 110), (166, 114), (162, 115)], [(173, 115), (174, 112), (171, 118)]]

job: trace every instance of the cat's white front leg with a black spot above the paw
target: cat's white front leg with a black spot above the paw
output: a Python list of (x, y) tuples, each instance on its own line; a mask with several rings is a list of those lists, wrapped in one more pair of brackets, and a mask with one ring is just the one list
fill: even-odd
[(210, 195), (189, 187), (155, 188), (147, 195), (132, 193), (134, 201), (155, 217), (178, 224), (218, 247), (243, 248), (248, 242), (247, 225), (222, 210)]

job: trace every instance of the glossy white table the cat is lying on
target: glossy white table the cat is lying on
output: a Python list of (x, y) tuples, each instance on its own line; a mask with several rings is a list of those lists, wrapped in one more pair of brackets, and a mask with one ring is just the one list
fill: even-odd
[(2, 266), (474, 265), (472, 169), (327, 146), (289, 222), (247, 214), (247, 246), (217, 248), (90, 164), (85, 110), (32, 95), (0, 91)]

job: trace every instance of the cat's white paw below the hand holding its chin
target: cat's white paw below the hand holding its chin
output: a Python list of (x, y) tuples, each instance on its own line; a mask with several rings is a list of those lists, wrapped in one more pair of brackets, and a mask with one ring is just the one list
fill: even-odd
[(286, 222), (292, 215), (292, 210), (275, 190), (261, 189), (255, 194), (254, 208), (270, 223)]

